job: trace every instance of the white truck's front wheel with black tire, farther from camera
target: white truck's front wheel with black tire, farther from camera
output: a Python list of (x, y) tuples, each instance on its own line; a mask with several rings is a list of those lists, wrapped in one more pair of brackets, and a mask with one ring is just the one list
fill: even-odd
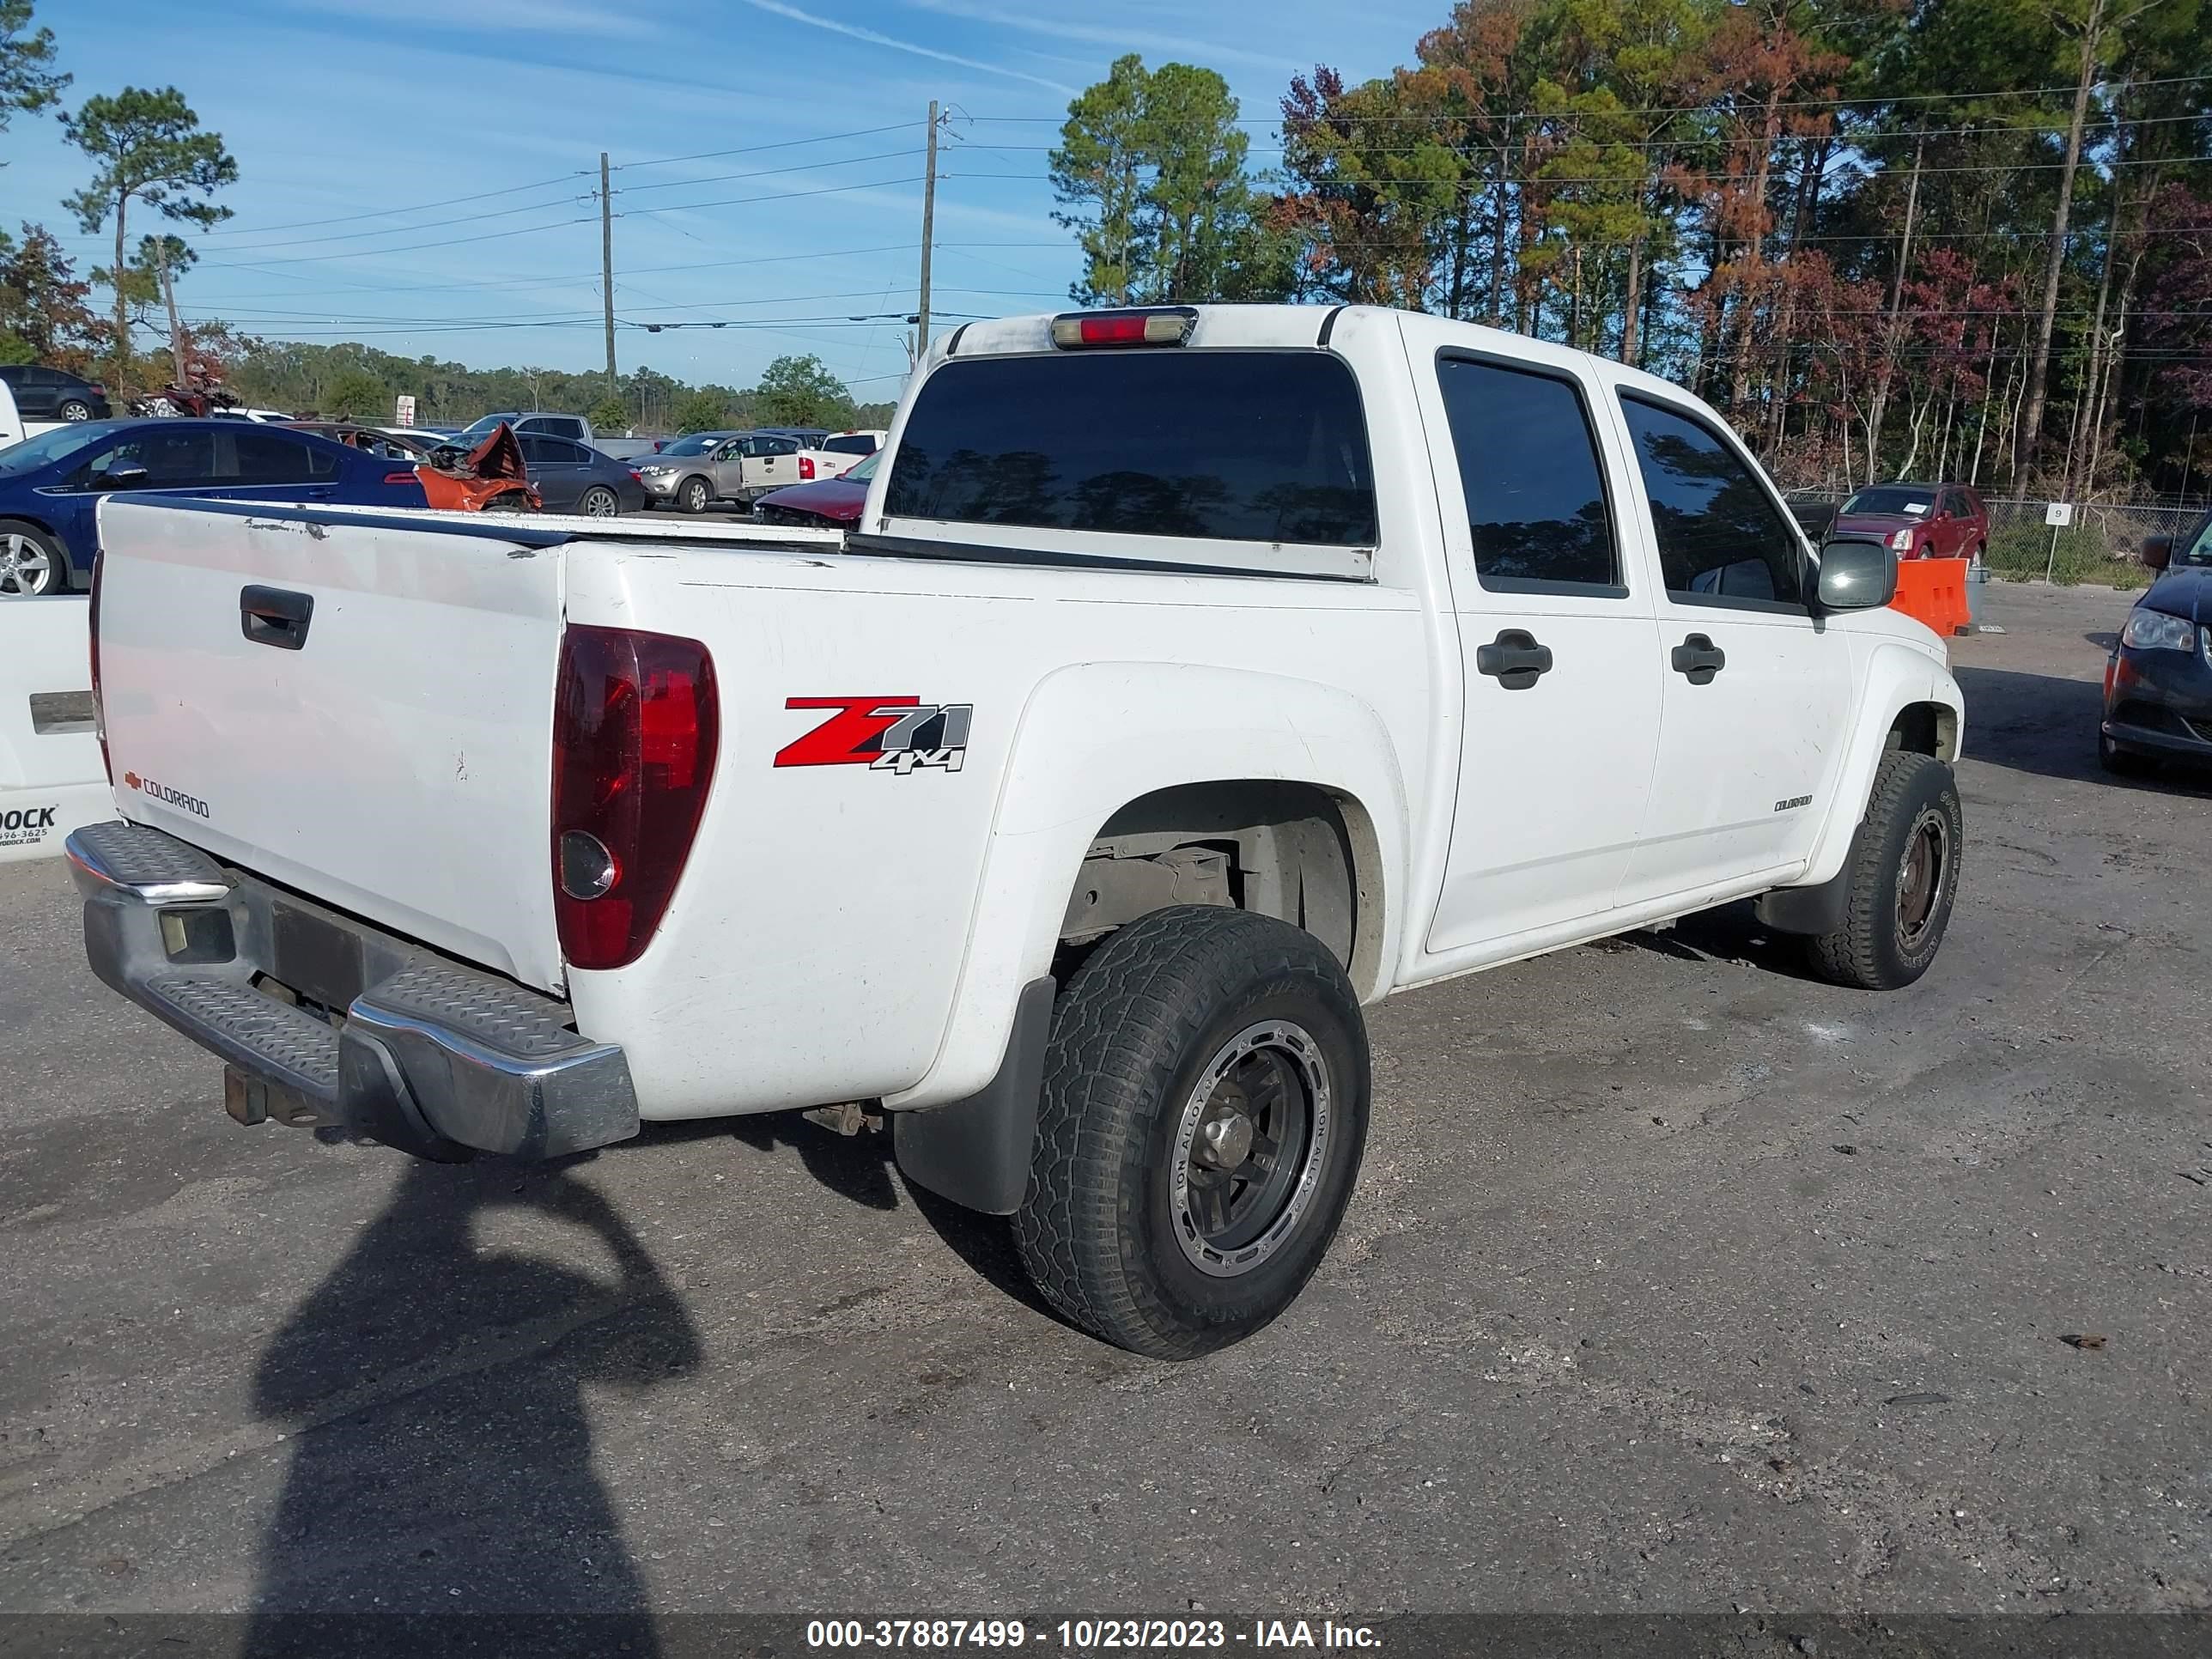
[(1807, 942), (1814, 969), (1863, 991), (1896, 991), (1927, 973), (1951, 925), (1964, 832), (1951, 768), (1933, 754), (1887, 752), (1845, 863), (1843, 927)]

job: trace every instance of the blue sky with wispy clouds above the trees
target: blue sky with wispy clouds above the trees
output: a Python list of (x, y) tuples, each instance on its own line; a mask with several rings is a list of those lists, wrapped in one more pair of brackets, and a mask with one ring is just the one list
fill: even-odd
[[(38, 0), (69, 102), (175, 84), (219, 131), (237, 217), (195, 237), (195, 316), (276, 338), (358, 338), (462, 363), (604, 361), (599, 150), (615, 173), (617, 356), (748, 385), (816, 352), (896, 392), (914, 307), (929, 100), (945, 321), (1046, 310), (1075, 274), (1044, 153), (1068, 97), (1121, 51), (1219, 69), (1254, 161), (1292, 73), (1407, 62), (1449, 0)], [(878, 128), (878, 131), (869, 131)], [(44, 221), (84, 159), (51, 117), (0, 135), (0, 219)], [(491, 195), (498, 192), (498, 195)], [(456, 197), (480, 197), (456, 201)], [(445, 206), (429, 206), (445, 204)], [(131, 239), (153, 230), (144, 210)], [(739, 325), (743, 323), (743, 325)]]

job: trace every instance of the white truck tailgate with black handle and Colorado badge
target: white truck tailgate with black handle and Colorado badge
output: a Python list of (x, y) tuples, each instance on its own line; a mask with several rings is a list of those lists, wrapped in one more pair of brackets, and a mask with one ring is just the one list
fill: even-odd
[(100, 507), (126, 818), (546, 991), (560, 535), (241, 502)]

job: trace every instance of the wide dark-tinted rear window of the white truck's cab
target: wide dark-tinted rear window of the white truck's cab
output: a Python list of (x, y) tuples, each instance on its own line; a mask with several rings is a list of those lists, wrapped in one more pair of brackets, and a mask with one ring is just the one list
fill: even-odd
[(1371, 546), (1352, 369), (1321, 352), (949, 363), (891, 460), (891, 518)]

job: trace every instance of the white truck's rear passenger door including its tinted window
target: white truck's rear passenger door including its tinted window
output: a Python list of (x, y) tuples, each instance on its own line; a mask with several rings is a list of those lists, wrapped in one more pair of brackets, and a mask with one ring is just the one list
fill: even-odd
[(1659, 745), (1652, 595), (1608, 489), (1608, 447), (1610, 476), (1626, 458), (1573, 358), (1447, 345), (1416, 380), (1467, 686), (1429, 951), (1511, 949), (1615, 905)]

